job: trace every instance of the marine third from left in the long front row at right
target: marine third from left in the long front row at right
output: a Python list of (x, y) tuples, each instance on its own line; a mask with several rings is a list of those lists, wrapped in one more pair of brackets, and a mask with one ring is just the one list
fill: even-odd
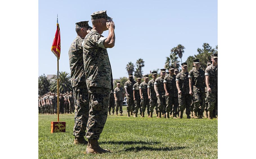
[(144, 75), (144, 81), (140, 84), (140, 99), (142, 100), (142, 116), (144, 117), (145, 115), (145, 110), (147, 108), (147, 113), (149, 117), (149, 96), (147, 92), (147, 86), (149, 82), (149, 75)]

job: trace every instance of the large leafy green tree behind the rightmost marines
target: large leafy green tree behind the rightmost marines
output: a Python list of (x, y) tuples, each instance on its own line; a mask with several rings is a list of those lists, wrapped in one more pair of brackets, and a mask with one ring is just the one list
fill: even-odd
[(208, 43), (203, 43), (203, 48), (197, 48), (197, 55), (189, 56), (187, 59), (188, 70), (192, 69), (193, 59), (199, 59), (201, 69), (206, 69), (207, 61), (211, 60), (211, 54), (218, 53), (218, 46), (212, 48)]

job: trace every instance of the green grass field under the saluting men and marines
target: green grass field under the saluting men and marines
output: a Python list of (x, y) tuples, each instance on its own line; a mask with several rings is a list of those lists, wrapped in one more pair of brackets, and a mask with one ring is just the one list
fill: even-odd
[(39, 158), (217, 158), (216, 119), (128, 118), (123, 110), (124, 116), (108, 116), (100, 135), (100, 146), (111, 153), (97, 155), (73, 145), (74, 114), (60, 114), (66, 132), (53, 134), (57, 115), (39, 114)]

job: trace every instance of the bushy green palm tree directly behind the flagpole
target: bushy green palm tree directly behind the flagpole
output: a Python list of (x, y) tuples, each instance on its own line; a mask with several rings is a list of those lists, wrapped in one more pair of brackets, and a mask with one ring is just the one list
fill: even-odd
[[(57, 75), (53, 75), (53, 78), (51, 78), (51, 84), (50, 84), (50, 91), (51, 92), (57, 92)], [(70, 75), (69, 73), (60, 72), (59, 73), (59, 92), (64, 93), (66, 91), (71, 91), (71, 81), (70, 81)]]

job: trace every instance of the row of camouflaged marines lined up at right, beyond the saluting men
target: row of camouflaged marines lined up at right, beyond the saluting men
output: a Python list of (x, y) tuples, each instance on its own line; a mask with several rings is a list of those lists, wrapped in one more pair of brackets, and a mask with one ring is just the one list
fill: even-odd
[[(154, 108), (157, 118), (183, 118), (183, 112), (187, 118), (205, 118), (212, 119), (217, 116), (217, 54), (211, 55), (211, 61), (207, 62), (207, 68), (201, 69), (199, 59), (193, 60), (193, 68), (188, 71), (187, 63), (181, 64), (182, 71), (179, 72), (174, 66), (161, 69), (160, 76), (156, 71), (152, 72), (152, 80), (149, 81), (149, 75), (137, 76), (133, 80), (133, 74), (129, 74), (129, 80), (124, 84), (124, 91), (117, 87), (120, 95), (126, 94), (127, 116), (133, 114), (138, 116), (138, 110), (141, 110), (140, 117), (145, 117), (145, 110), (149, 118), (152, 118)], [(123, 99), (123, 98), (122, 98)], [(120, 107), (120, 106), (119, 106)], [(114, 104), (109, 103), (109, 115)], [(116, 115), (118, 108), (116, 109)], [(120, 112), (121, 113), (121, 112)], [(122, 113), (121, 113), (122, 115)]]

